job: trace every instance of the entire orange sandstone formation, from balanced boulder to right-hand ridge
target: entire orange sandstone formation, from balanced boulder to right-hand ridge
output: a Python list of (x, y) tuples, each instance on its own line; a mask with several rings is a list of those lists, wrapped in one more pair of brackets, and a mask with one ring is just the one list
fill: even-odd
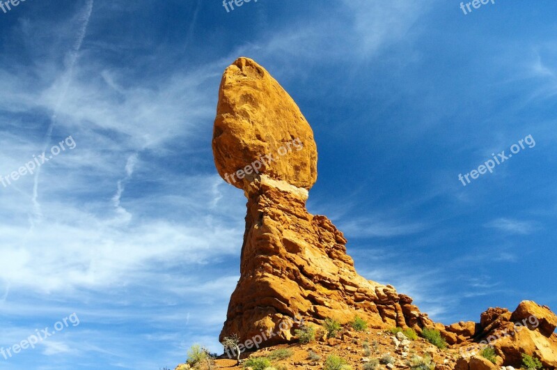
[(256, 337), (258, 346), (285, 343), (293, 339), (295, 318), (345, 324), (357, 314), (377, 328), (435, 327), (466, 354), (473, 352), (466, 348), (535, 315), (540, 325), (526, 325), (494, 346), (505, 364), (515, 366), (526, 352), (548, 367), (557, 365), (557, 319), (547, 307), (523, 302), (512, 314), (490, 309), (480, 323), (445, 326), (393, 286), (358, 275), (343, 233), (327, 217), (306, 210), (317, 179), (313, 131), (290, 95), (251, 59), (237, 59), (223, 74), (212, 147), (221, 177), (248, 199), (240, 280), (221, 341), (237, 334), (242, 343)]

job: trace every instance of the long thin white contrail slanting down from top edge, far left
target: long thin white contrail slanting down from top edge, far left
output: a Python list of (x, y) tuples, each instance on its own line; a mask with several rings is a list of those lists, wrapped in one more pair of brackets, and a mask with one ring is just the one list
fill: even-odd
[[(72, 47), (72, 49), (70, 50), (70, 63), (68, 65), (68, 67), (66, 68), (62, 80), (63, 80), (63, 88), (62, 88), (62, 92), (60, 93), (60, 96), (58, 97), (58, 101), (56, 102), (56, 105), (54, 106), (54, 111), (52, 113), (52, 116), (50, 117), (50, 124), (47, 128), (47, 133), (45, 134), (45, 144), (42, 146), (42, 153), (45, 153), (47, 151), (47, 148), (50, 144), (50, 140), (52, 139), (52, 130), (54, 129), (54, 125), (56, 123), (56, 115), (58, 114), (58, 110), (60, 109), (60, 106), (65, 98), (66, 93), (68, 92), (68, 88), (70, 86), (70, 82), (72, 80), (72, 73), (74, 70), (74, 65), (75, 62), (77, 61), (77, 57), (79, 56), (79, 50), (81, 49), (81, 44), (83, 43), (83, 40), (86, 36), (87, 33), (87, 26), (89, 24), (89, 19), (91, 18), (91, 13), (93, 12), (93, 3), (95, 2), (95, 0), (87, 0), (86, 6), (83, 10), (83, 12), (79, 15), (78, 21), (80, 22), (81, 26), (79, 26), (79, 30), (77, 33), (77, 39), (75, 40), (75, 43)], [(37, 201), (38, 199), (38, 184), (39, 184), (39, 176), (40, 176), (40, 167), (38, 167), (36, 173), (35, 173), (35, 178), (33, 180), (33, 216), (35, 217), (33, 219), (33, 217), (30, 218), (30, 222), (31, 222), (31, 229), (33, 228), (34, 225), (34, 221), (35, 219), (41, 219), (42, 218), (42, 212), (40, 210), (40, 203)]]

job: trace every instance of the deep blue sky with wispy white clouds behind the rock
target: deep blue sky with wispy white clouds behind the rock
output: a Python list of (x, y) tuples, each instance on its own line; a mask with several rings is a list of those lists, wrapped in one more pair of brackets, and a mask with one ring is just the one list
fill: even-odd
[[(217, 175), (222, 72), (261, 63), (315, 132), (308, 209), (436, 321), (557, 307), (557, 3), (27, 0), (0, 10), (0, 369), (217, 352), (245, 199)], [(535, 146), (471, 180), (492, 153)], [(529, 141), (531, 142), (531, 141)], [(66, 145), (68, 146), (68, 145)], [(17, 177), (17, 176), (16, 176)], [(52, 329), (51, 329), (52, 331)]]

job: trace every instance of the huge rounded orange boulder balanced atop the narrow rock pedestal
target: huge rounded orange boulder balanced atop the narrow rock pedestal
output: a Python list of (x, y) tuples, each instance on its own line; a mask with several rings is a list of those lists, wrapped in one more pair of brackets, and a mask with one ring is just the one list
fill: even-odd
[(306, 190), (317, 180), (317, 147), (308, 121), (251, 59), (237, 59), (224, 71), (212, 146), (219, 174), (241, 189), (260, 174)]

